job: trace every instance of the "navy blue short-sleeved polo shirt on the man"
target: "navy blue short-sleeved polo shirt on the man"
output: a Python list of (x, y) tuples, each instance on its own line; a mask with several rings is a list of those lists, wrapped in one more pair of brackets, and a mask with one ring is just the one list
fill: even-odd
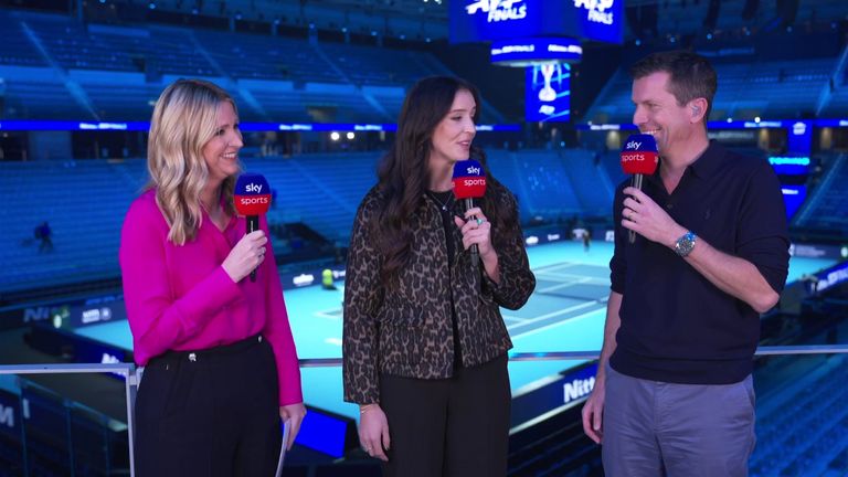
[[(615, 254), (612, 289), (623, 295), (616, 371), (651, 381), (728, 384), (753, 370), (760, 314), (712, 285), (685, 258), (636, 235), (622, 223), (625, 199), (618, 186), (613, 205)], [(717, 250), (751, 262), (778, 294), (788, 272), (786, 213), (777, 176), (756, 159), (710, 142), (669, 194), (657, 173), (643, 191), (681, 226)], [(696, 248), (698, 244), (696, 243)]]

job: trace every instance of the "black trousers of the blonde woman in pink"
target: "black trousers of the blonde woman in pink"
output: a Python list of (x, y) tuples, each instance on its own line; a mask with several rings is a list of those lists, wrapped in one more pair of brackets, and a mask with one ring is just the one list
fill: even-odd
[(136, 399), (136, 475), (273, 477), (278, 402), (274, 351), (261, 337), (152, 359)]

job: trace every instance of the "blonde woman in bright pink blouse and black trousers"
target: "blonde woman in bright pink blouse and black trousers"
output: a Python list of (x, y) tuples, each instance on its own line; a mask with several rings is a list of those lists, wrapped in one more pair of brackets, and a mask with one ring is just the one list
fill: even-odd
[[(135, 359), (140, 477), (273, 476), (306, 414), (267, 239), (233, 205), (243, 146), (233, 98), (180, 80), (153, 109), (150, 183), (124, 221), (120, 267)], [(267, 259), (266, 259), (267, 256)], [(256, 282), (245, 279), (256, 269)]]

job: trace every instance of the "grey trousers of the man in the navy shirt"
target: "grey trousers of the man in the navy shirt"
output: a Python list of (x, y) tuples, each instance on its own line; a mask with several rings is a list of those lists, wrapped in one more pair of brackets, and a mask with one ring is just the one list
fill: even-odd
[(734, 384), (675, 384), (606, 367), (607, 477), (745, 477), (754, 451), (751, 375)]

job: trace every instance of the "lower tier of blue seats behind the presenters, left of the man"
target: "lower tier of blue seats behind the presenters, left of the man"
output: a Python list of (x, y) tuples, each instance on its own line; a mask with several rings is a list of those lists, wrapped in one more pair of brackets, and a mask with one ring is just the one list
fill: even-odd
[[(377, 181), (380, 152), (246, 158), (276, 190), (271, 223), (304, 222), (347, 246), (357, 206)], [(606, 216), (614, 182), (586, 150), (492, 150), (492, 173), (518, 198), (522, 221)], [(0, 242), (7, 271), (0, 293), (118, 276), (121, 219), (146, 181), (145, 161), (0, 162)], [(343, 170), (343, 174), (338, 172)], [(39, 194), (26, 191), (40, 191)], [(47, 221), (52, 252), (40, 252), (34, 227)], [(280, 244), (282, 252), (284, 248)]]

